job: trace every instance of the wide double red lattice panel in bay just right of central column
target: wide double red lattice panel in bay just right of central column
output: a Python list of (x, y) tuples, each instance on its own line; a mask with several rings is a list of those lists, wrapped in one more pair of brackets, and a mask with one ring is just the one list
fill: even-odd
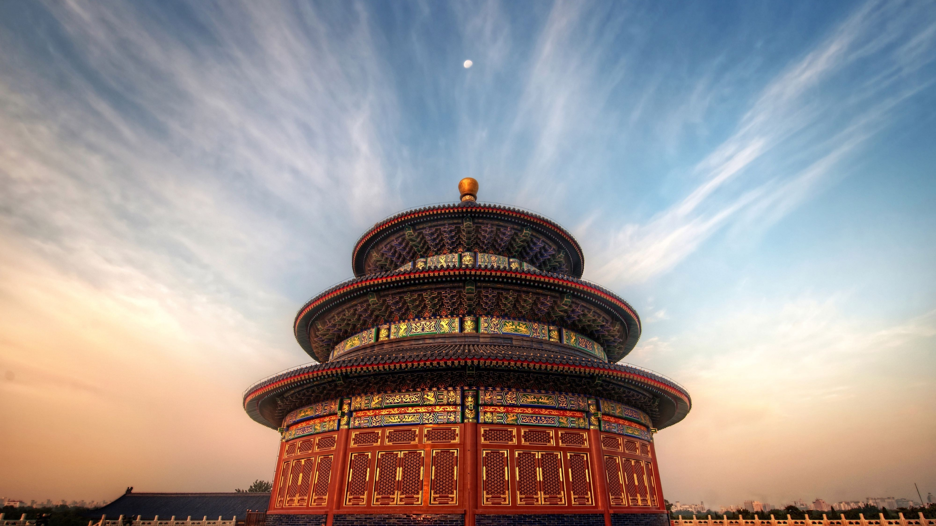
[(517, 451), (517, 504), (564, 505), (563, 457), (558, 451)]

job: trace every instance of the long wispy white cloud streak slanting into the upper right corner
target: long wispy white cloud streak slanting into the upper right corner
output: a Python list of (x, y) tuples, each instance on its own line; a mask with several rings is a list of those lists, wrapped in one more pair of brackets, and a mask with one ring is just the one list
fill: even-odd
[[(670, 270), (725, 225), (763, 229), (838, 178), (843, 159), (931, 85), (936, 34), (929, 9), (868, 3), (771, 80), (737, 130), (698, 162), (686, 197), (615, 232), (591, 275), (641, 282)], [(887, 31), (882, 31), (887, 27)], [(856, 70), (875, 72), (848, 85)], [(805, 166), (805, 168), (804, 168)]]

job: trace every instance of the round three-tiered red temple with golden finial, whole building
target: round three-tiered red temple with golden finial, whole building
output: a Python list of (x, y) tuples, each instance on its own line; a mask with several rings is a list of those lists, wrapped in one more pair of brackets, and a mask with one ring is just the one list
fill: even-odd
[(568, 231), (475, 200), (401, 212), (309, 300), (317, 363), (247, 389), (282, 435), (268, 526), (663, 526), (653, 433), (692, 402), (619, 364), (640, 318)]

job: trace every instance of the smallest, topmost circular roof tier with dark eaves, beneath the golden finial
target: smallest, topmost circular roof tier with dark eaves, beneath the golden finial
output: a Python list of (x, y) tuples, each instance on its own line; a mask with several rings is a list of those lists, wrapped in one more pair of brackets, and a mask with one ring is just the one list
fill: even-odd
[(576, 278), (585, 266), (578, 241), (552, 220), (474, 200), (400, 212), (377, 223), (355, 244), (351, 263), (360, 277), (455, 252), (515, 257), (538, 270)]

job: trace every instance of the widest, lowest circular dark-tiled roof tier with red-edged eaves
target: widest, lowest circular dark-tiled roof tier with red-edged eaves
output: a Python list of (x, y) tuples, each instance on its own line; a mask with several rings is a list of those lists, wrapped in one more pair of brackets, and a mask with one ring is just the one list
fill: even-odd
[(278, 429), (290, 411), (315, 402), (431, 387), (534, 388), (597, 396), (644, 411), (657, 429), (679, 422), (692, 408), (686, 389), (657, 373), (570, 354), (559, 345), (526, 347), (491, 339), (426, 339), (304, 365), (248, 388), (243, 404), (256, 422)]

